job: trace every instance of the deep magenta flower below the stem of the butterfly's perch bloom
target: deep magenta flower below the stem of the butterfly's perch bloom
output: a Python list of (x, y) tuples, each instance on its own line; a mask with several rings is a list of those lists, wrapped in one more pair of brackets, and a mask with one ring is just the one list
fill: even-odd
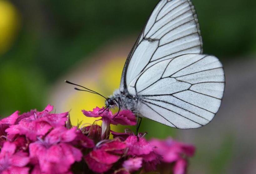
[(123, 154), (124, 149), (126, 149), (126, 144), (116, 139), (100, 144), (99, 149), (94, 149), (84, 159), (93, 172), (103, 173), (121, 158), (120, 155)]

